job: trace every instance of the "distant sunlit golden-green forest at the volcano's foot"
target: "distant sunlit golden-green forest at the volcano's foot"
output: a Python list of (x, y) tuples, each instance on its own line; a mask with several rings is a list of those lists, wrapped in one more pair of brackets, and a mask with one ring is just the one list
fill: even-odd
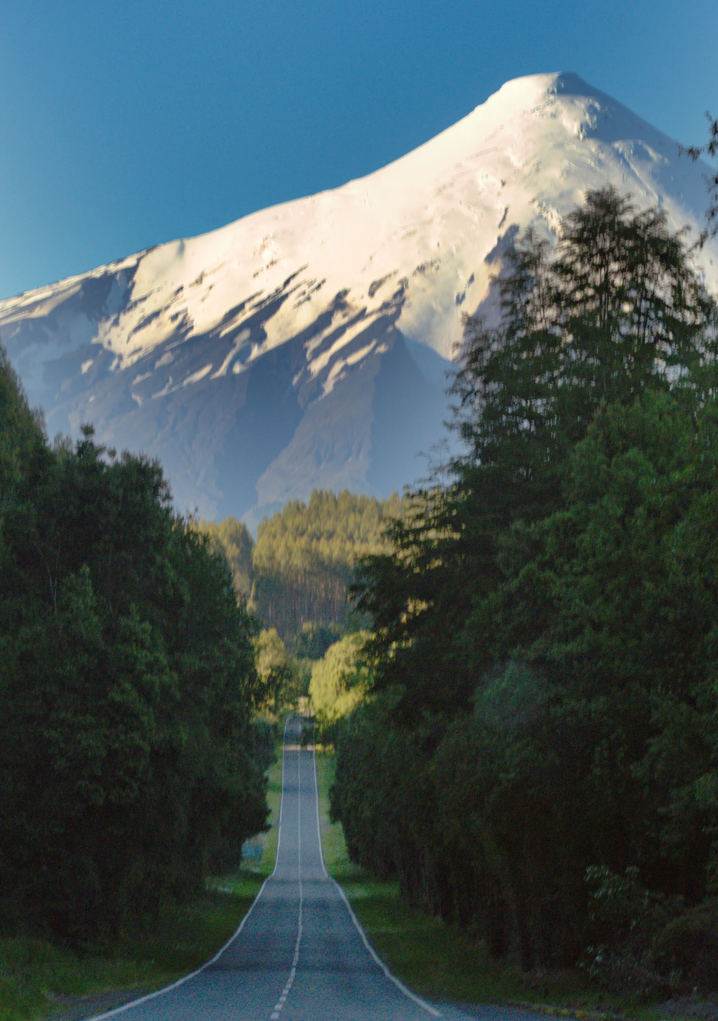
[[(257, 529), (256, 545), (244, 524), (227, 518), (200, 521), (210, 548), (227, 557), (235, 587), (266, 628), (276, 628), (292, 647), (306, 639), (307, 626), (347, 626), (346, 600), (357, 558), (378, 552), (387, 522), (404, 501), (343, 490), (315, 490), (309, 502), (293, 500)], [(302, 638), (303, 634), (303, 638)], [(324, 651), (324, 649), (322, 650)]]

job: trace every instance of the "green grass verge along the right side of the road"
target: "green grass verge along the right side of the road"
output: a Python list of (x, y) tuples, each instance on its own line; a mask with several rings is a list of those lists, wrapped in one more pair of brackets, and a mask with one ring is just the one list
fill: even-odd
[(341, 825), (329, 821), (331, 752), (317, 756), (322, 849), (330, 874), (344, 889), (375, 950), (411, 988), (434, 1002), (512, 1004), (574, 1018), (623, 1015), (658, 1018), (651, 1008), (607, 998), (580, 972), (525, 975), (517, 964), (497, 962), (485, 945), (456, 926), (416, 911), (395, 882), (378, 880), (348, 859)]

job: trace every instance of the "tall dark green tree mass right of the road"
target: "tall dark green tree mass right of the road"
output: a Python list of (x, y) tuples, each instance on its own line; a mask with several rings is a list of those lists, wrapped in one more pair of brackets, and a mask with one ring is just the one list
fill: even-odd
[(718, 988), (718, 310), (658, 209), (589, 193), (467, 320), (465, 454), (353, 592), (352, 859), (524, 968)]

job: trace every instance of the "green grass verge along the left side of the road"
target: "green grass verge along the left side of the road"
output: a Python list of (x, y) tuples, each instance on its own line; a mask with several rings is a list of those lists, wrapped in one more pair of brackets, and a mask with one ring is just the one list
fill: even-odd
[(281, 749), (268, 773), (270, 830), (248, 841), (242, 868), (202, 896), (82, 954), (46, 939), (0, 935), (0, 1021), (87, 1017), (173, 982), (204, 964), (237, 929), (275, 863)]

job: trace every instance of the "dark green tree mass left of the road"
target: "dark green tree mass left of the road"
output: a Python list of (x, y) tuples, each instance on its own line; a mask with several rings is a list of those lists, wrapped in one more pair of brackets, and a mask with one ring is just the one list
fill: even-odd
[(0, 348), (0, 921), (80, 943), (265, 828), (256, 624), (160, 467), (49, 445)]

